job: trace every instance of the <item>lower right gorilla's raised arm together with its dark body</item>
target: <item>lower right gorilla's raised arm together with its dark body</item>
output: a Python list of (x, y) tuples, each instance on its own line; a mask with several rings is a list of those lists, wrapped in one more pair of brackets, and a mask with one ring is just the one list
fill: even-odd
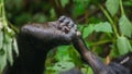
[(80, 53), (82, 60), (91, 66), (95, 74), (131, 74), (132, 53), (123, 55), (119, 58), (119, 61), (113, 61), (107, 65), (98, 55), (87, 48), (84, 39), (81, 38), (81, 34), (76, 36), (73, 44)]

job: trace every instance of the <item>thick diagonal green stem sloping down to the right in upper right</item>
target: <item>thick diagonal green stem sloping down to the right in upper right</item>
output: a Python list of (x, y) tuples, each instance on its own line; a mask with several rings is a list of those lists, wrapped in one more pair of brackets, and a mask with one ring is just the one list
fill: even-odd
[(111, 23), (111, 26), (113, 27), (114, 35), (116, 35), (116, 37), (118, 38), (118, 37), (119, 37), (119, 34), (118, 34), (118, 30), (117, 30), (117, 27), (116, 27), (114, 22), (112, 21), (112, 18), (111, 18), (110, 15), (108, 14), (108, 12), (107, 12), (100, 4), (98, 4), (98, 5), (99, 5), (99, 8), (101, 9), (101, 11), (103, 12), (103, 14), (107, 16), (107, 18), (109, 20), (109, 22)]

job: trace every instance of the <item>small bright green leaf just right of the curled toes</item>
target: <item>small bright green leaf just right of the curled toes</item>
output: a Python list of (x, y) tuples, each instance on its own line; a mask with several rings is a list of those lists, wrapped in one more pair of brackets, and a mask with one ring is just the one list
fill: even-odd
[(87, 27), (84, 28), (82, 38), (88, 37), (88, 35), (90, 35), (92, 32), (94, 32), (94, 25), (90, 24), (90, 25), (88, 25)]

